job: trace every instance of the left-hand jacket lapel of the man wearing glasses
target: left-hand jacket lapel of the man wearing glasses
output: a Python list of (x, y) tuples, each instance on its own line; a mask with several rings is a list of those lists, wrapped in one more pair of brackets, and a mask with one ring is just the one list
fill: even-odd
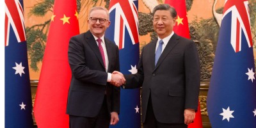
[(90, 45), (90, 47), (92, 48), (92, 51), (95, 53), (95, 55), (97, 56), (98, 60), (100, 61), (100, 64), (102, 65), (102, 67), (105, 68), (101, 54), (100, 54), (100, 50), (99, 47), (96, 43), (95, 38), (93, 37), (92, 33), (90, 31), (87, 31), (88, 35), (86, 36), (88, 45)]

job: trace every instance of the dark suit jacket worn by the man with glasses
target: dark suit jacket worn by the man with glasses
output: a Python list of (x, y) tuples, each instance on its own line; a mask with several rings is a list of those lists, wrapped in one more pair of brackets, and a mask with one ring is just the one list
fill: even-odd
[[(119, 50), (105, 38), (108, 52), (108, 72), (119, 70)], [(67, 114), (74, 116), (95, 117), (100, 111), (107, 95), (110, 112), (119, 113), (120, 88), (107, 83), (105, 70), (99, 47), (90, 31), (73, 36), (68, 47), (68, 61), (72, 70), (72, 79), (68, 92)]]

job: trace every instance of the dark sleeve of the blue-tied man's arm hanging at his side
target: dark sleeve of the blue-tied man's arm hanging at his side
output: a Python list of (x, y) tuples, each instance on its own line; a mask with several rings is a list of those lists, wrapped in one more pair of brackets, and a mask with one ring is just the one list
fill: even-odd
[(196, 45), (192, 41), (186, 46), (184, 60), (186, 74), (185, 108), (197, 110), (200, 90), (200, 62)]

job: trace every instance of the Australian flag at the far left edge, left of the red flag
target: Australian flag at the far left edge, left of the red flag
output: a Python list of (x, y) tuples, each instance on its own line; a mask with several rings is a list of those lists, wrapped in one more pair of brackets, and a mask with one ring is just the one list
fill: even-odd
[(5, 127), (33, 127), (23, 1), (5, 1)]

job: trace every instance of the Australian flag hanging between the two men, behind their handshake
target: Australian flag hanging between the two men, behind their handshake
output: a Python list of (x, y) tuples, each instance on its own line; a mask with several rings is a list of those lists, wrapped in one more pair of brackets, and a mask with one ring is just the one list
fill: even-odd
[[(136, 74), (140, 59), (138, 33), (138, 1), (111, 0), (109, 4), (111, 25), (106, 37), (118, 45), (120, 71)], [(120, 121), (111, 127), (140, 128), (140, 89), (121, 89)]]

